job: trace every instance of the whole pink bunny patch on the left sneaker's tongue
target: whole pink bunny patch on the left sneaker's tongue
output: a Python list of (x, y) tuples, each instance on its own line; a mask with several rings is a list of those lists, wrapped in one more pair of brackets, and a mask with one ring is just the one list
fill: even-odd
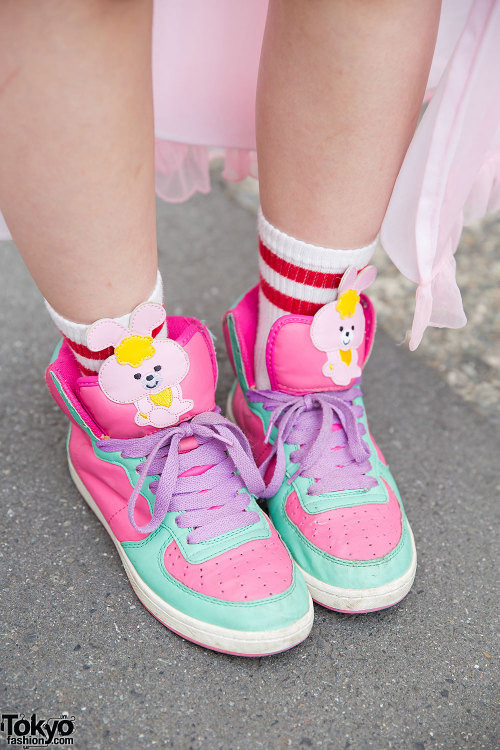
[(151, 336), (165, 318), (161, 305), (148, 302), (134, 310), (130, 328), (105, 318), (87, 334), (94, 352), (114, 347), (99, 370), (99, 386), (115, 404), (134, 404), (134, 420), (141, 426), (170, 427), (194, 406), (180, 385), (189, 371), (187, 352), (172, 339)]

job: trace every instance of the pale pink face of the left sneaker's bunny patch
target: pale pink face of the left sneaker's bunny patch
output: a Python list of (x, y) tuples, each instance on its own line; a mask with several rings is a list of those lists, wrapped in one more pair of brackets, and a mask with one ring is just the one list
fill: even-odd
[(140, 362), (120, 361), (119, 353), (104, 362), (99, 370), (99, 385), (111, 401), (130, 404), (178, 385), (186, 377), (189, 358), (180, 344), (171, 339), (155, 339), (152, 349), (152, 355)]

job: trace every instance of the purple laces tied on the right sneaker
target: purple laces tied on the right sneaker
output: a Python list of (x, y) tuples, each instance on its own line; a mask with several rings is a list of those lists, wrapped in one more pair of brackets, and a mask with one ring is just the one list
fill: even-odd
[(376, 486), (376, 479), (366, 473), (371, 469), (370, 451), (362, 440), (365, 427), (358, 422), (363, 408), (353, 404), (353, 400), (361, 395), (361, 390), (354, 387), (306, 396), (254, 389), (247, 392), (250, 401), (262, 403), (264, 409), (271, 411), (266, 443), (273, 427), (278, 430), (271, 452), (260, 466), (264, 477), (267, 467), (276, 457), (273, 476), (261, 497), (275, 495), (283, 482), (286, 470), (284, 443), (300, 446), (290, 455), (299, 468), (288, 483), (291, 484), (297, 476), (315, 479), (308, 490), (310, 495)]

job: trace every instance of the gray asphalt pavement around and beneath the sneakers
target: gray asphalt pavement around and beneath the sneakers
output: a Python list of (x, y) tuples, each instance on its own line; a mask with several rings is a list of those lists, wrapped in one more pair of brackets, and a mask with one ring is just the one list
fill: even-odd
[[(219, 337), (222, 405), (232, 377), (219, 321), (256, 278), (254, 217), (217, 182), (159, 206), (159, 230), (169, 310)], [(380, 331), (366, 402), (415, 533), (412, 591), (377, 614), (317, 606), (308, 640), (278, 656), (206, 651), (140, 605), (72, 485), (65, 418), (43, 382), (57, 334), (13, 245), (0, 268), (3, 711), (68, 711), (75, 747), (96, 750), (499, 746), (494, 420)]]

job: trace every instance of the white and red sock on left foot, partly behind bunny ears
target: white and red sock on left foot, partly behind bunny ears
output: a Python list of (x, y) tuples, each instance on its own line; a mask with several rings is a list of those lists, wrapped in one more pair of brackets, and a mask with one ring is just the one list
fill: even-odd
[[(159, 305), (163, 304), (163, 283), (159, 271), (156, 276), (155, 287), (149, 297), (144, 300), (144, 302), (156, 302)], [(112, 355), (112, 349), (110, 351), (105, 349), (101, 352), (91, 351), (87, 347), (87, 331), (90, 328), (90, 324), (86, 325), (85, 323), (74, 323), (71, 320), (63, 318), (62, 315), (59, 315), (59, 313), (57, 313), (54, 308), (49, 305), (47, 300), (45, 300), (45, 305), (53, 322), (71, 347), (73, 354), (75, 355), (75, 358), (80, 365), (82, 373), (84, 375), (96, 375), (99, 372), (99, 369), (104, 360)], [(118, 323), (121, 323), (122, 325), (128, 327), (131, 314), (132, 310), (126, 315), (121, 315), (118, 318), (113, 318), (113, 320), (116, 320), (118, 321)], [(164, 325), (162, 326), (162, 328), (164, 328)], [(159, 332), (153, 331), (153, 336), (157, 335), (160, 335), (161, 337), (161, 329)]]

